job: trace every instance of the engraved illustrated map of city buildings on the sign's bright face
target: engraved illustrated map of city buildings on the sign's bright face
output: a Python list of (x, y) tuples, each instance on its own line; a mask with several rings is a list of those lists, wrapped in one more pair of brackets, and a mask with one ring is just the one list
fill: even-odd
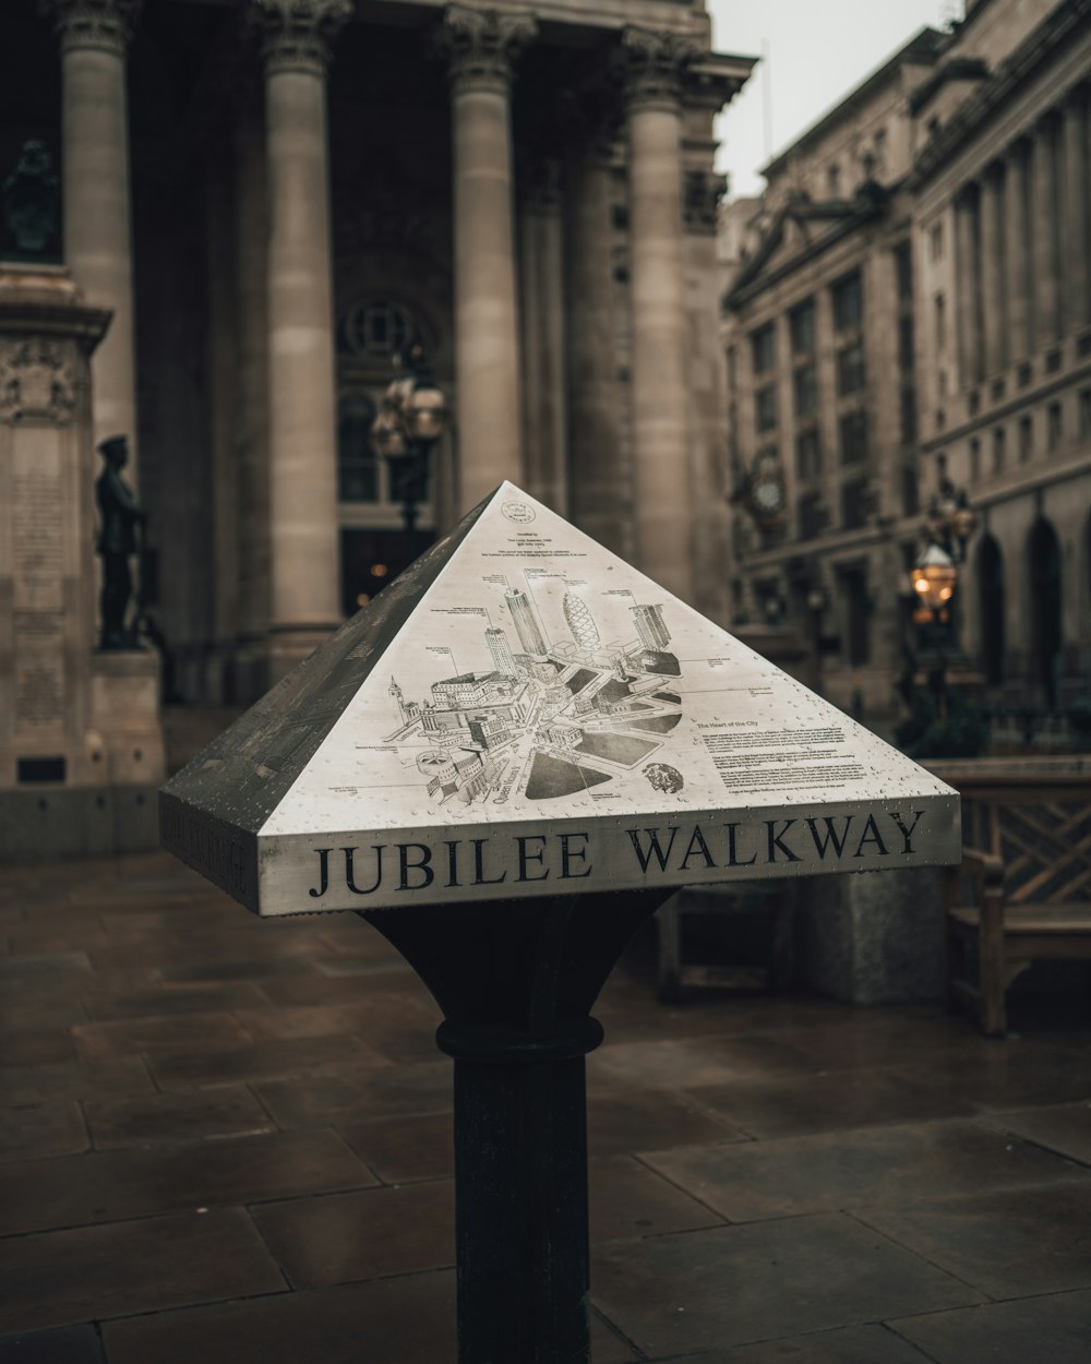
[[(440, 678), (416, 696), (390, 679), (400, 724), (387, 742), (421, 745), (416, 767), (440, 803), (589, 791), (646, 764), (682, 719), (661, 606), (634, 600), (631, 636), (611, 640), (567, 582), (559, 619), (546, 621), (530, 580), (518, 580), (480, 630), (479, 653), (491, 667)], [(645, 775), (663, 779), (655, 767)]]

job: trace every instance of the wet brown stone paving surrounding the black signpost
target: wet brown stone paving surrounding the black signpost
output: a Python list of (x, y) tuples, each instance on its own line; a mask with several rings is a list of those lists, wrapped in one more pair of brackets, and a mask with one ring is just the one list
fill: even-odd
[[(453, 1364), (450, 1073), (365, 923), (0, 872), (0, 1364)], [(1086, 1364), (1091, 1019), (799, 996), (589, 1061), (595, 1364)]]

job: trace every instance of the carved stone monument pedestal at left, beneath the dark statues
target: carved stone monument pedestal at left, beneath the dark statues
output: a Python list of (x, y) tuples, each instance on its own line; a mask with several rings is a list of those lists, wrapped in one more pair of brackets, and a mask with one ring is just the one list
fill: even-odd
[(155, 842), (158, 659), (93, 652), (90, 356), (108, 323), (63, 269), (0, 270), (0, 858)]

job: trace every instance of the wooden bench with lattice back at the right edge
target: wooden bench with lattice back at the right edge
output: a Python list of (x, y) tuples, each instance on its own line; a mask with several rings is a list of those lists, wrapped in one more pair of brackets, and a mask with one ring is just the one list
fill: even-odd
[(1091, 760), (930, 762), (963, 798), (948, 869), (948, 1004), (1006, 1033), (1006, 992), (1036, 960), (1091, 959)]

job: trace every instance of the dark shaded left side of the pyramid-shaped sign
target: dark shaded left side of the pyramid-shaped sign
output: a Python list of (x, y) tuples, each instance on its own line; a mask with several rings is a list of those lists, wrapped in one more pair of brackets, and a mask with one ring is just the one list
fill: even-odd
[(165, 848), (259, 908), (256, 833), (341, 717), (485, 503), (277, 683), (160, 792)]

